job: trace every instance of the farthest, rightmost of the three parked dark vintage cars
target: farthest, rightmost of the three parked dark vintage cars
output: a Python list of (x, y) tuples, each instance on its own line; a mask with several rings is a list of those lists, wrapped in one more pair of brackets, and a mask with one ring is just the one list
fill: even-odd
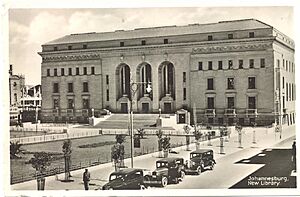
[(201, 174), (206, 169), (213, 170), (216, 161), (211, 149), (200, 149), (190, 153), (190, 160), (186, 161), (185, 172)]

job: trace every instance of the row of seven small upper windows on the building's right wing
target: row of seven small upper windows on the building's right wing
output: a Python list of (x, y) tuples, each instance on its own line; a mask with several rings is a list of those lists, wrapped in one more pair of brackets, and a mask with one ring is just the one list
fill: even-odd
[[(208, 68), (207, 70), (213, 70), (213, 61), (208, 61)], [(238, 60), (239, 69), (244, 68), (244, 60)], [(254, 68), (255, 61), (254, 59), (249, 59), (249, 68)], [(227, 62), (228, 69), (233, 69), (233, 60), (228, 60)], [(266, 61), (264, 58), (260, 59), (260, 68), (266, 67)], [(204, 70), (203, 69), (203, 62), (198, 62), (198, 70)], [(223, 61), (218, 61), (218, 70), (223, 70)]]

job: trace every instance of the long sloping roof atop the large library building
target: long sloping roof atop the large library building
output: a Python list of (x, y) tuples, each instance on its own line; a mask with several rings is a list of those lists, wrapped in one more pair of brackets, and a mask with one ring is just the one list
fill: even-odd
[(146, 27), (136, 28), (134, 30), (116, 30), (114, 32), (90, 32), (70, 34), (64, 37), (50, 41), (44, 45), (81, 43), (81, 42), (97, 42), (110, 40), (127, 40), (147, 37), (163, 37), (177, 36), (200, 33), (213, 33), (222, 31), (250, 30), (272, 28), (256, 19), (242, 19), (232, 21), (220, 21), (208, 24), (190, 24), (185, 26), (162, 26), (162, 27)]

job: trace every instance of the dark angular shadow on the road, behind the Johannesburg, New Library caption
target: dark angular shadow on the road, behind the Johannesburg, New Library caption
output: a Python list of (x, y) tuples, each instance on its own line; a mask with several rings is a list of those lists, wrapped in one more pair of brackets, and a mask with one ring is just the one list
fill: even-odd
[(291, 176), (293, 163), (291, 149), (265, 149), (235, 164), (265, 164), (230, 189), (240, 188), (296, 188), (296, 177)]

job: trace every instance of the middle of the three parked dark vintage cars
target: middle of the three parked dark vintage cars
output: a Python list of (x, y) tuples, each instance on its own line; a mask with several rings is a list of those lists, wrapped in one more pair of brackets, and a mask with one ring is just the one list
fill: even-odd
[(183, 158), (164, 158), (156, 161), (156, 170), (151, 175), (145, 175), (144, 183), (147, 186), (161, 185), (165, 187), (169, 182), (182, 181), (184, 175)]

